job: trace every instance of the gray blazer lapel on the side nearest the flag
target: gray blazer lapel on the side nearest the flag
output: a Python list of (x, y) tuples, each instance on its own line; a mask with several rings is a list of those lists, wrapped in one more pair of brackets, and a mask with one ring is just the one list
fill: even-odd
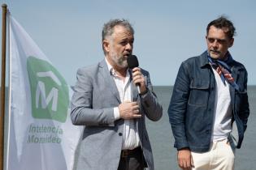
[(100, 62), (99, 67), (100, 67), (99, 72), (100, 74), (102, 74), (103, 80), (107, 87), (106, 89), (110, 90), (113, 96), (115, 96), (115, 98), (119, 101), (119, 103), (121, 103), (119, 92), (115, 85), (115, 80), (111, 77), (111, 73), (107, 68), (105, 59), (102, 60), (102, 62)]

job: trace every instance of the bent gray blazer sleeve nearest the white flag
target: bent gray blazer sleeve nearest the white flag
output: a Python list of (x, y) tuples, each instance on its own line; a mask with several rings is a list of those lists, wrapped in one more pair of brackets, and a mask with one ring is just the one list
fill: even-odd
[(93, 79), (88, 71), (77, 70), (77, 81), (71, 101), (72, 123), (114, 126), (114, 108), (93, 109)]

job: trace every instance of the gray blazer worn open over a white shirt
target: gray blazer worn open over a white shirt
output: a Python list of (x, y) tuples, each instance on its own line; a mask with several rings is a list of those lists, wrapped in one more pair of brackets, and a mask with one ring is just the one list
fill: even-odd
[[(150, 74), (141, 70), (149, 91), (138, 97), (132, 83), (132, 99), (140, 105), (142, 117), (137, 119), (138, 133), (145, 162), (154, 169), (150, 141), (145, 129), (145, 116), (158, 121), (163, 108), (152, 91)], [(130, 80), (132, 81), (132, 79)], [(123, 141), (124, 119), (115, 121), (114, 107), (121, 103), (119, 92), (103, 60), (95, 66), (80, 68), (71, 101), (71, 118), (74, 125), (85, 125), (78, 155), (78, 170), (116, 170), (119, 165)]]

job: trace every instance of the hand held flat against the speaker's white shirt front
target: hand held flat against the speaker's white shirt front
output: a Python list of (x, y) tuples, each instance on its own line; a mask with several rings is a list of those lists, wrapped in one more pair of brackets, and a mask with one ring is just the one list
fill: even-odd
[(119, 104), (119, 113), (120, 118), (123, 119), (135, 119), (140, 118), (140, 107), (137, 104), (137, 102), (124, 102), (122, 104)]

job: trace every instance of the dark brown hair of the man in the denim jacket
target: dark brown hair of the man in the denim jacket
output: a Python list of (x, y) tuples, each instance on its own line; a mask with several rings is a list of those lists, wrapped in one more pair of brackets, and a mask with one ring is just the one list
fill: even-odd
[(220, 28), (220, 29), (225, 28), (223, 29), (223, 32), (227, 33), (228, 38), (230, 39), (232, 39), (232, 37), (236, 35), (236, 28), (234, 27), (233, 23), (223, 15), (220, 16), (218, 19), (211, 21), (208, 24), (206, 28), (207, 35), (209, 33), (210, 26), (215, 26), (215, 28)]

